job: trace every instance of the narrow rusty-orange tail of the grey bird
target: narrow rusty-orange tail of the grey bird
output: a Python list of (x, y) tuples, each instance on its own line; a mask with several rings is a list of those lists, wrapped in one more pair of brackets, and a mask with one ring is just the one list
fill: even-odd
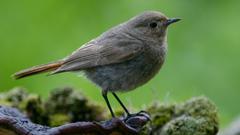
[(44, 65), (34, 66), (34, 67), (15, 73), (13, 75), (13, 78), (20, 79), (20, 78), (24, 78), (24, 77), (39, 74), (39, 73), (53, 71), (59, 68), (61, 65), (62, 65), (62, 62), (57, 61), (57, 62), (52, 62)]

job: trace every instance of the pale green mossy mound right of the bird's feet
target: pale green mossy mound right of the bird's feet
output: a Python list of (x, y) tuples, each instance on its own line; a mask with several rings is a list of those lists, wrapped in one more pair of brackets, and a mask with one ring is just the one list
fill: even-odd
[(152, 123), (143, 134), (153, 135), (216, 135), (216, 106), (206, 97), (192, 98), (182, 104), (152, 104), (147, 111)]

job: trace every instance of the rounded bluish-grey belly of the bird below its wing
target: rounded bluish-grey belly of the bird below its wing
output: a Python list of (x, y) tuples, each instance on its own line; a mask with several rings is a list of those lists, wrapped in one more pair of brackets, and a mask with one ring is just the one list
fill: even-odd
[(133, 90), (148, 82), (161, 68), (163, 60), (135, 59), (85, 70), (88, 79), (107, 91)]

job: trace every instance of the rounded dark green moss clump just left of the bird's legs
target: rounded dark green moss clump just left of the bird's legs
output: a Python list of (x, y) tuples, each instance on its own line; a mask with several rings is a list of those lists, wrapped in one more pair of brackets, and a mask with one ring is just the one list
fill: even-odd
[(49, 115), (58, 113), (68, 115), (70, 121), (103, 120), (103, 108), (90, 102), (83, 94), (71, 88), (54, 90), (45, 103)]

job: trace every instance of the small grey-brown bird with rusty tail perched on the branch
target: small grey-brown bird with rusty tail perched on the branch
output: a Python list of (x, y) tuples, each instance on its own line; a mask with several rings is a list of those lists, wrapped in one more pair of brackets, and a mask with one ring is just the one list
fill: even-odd
[(112, 117), (115, 114), (108, 100), (109, 92), (130, 116), (116, 92), (134, 90), (158, 73), (167, 53), (167, 28), (180, 20), (168, 18), (159, 11), (144, 11), (103, 32), (67, 57), (19, 71), (13, 77), (83, 72), (100, 87)]

